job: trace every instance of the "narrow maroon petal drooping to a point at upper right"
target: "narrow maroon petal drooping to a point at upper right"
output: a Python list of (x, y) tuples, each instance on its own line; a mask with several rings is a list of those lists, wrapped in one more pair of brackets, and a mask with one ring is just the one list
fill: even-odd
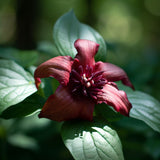
[(127, 74), (120, 67), (111, 63), (103, 63), (99, 61), (96, 63), (96, 70), (104, 71), (103, 76), (107, 81), (113, 82), (121, 80), (123, 84), (134, 89), (134, 86), (130, 82)]

